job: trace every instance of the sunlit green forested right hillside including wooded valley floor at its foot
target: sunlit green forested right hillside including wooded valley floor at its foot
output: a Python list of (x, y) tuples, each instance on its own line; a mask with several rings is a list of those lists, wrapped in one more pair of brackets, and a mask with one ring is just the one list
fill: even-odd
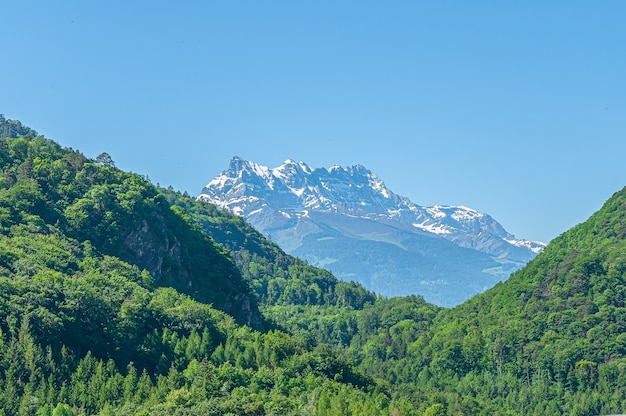
[(626, 189), (457, 308), (409, 297), (364, 308), (269, 302), (263, 310), (294, 333), (341, 346), (363, 371), (411, 397), (418, 414), (436, 404), (448, 414), (620, 413), (625, 238)]

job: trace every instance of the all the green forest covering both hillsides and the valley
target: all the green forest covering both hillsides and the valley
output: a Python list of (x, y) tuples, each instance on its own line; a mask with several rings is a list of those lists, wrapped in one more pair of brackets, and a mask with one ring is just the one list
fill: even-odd
[(0, 115), (0, 416), (626, 412), (626, 188), (458, 307)]

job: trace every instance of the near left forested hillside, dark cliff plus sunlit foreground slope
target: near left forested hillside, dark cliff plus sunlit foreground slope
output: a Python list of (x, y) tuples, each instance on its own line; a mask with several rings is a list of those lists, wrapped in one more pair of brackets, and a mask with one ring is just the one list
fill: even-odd
[(269, 329), (141, 176), (40, 136), (2, 139), (0, 166), (0, 414), (388, 413), (346, 357)]

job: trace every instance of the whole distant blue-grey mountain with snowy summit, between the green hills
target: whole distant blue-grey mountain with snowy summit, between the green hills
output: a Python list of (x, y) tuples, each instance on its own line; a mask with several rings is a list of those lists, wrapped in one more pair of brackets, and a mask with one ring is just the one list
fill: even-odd
[(234, 157), (198, 199), (342, 280), (443, 306), (492, 287), (544, 247), (467, 207), (416, 205), (360, 165), (313, 169), (287, 160), (270, 169)]

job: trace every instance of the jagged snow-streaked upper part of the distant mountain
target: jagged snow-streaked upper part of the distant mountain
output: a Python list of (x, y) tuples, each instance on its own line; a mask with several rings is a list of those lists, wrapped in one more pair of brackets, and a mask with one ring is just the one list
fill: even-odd
[(209, 182), (199, 199), (249, 220), (263, 216), (268, 221), (268, 216), (279, 215), (283, 221), (318, 211), (395, 223), (461, 247), (496, 257), (512, 256), (518, 261), (529, 260), (545, 246), (517, 239), (491, 216), (472, 208), (416, 205), (391, 192), (362, 165), (312, 169), (304, 162), (287, 159), (276, 168), (268, 168), (234, 157), (228, 170)]

